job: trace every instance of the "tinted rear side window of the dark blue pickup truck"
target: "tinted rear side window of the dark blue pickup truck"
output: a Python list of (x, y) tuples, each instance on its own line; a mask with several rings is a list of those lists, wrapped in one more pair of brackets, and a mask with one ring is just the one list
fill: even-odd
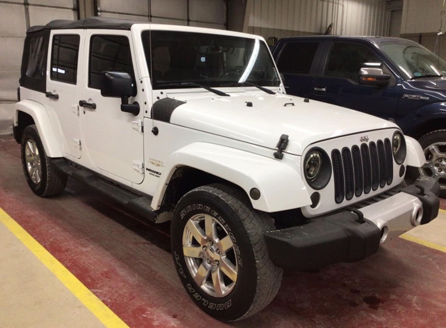
[(309, 74), (318, 42), (293, 42), (285, 45), (277, 69), (280, 73)]

